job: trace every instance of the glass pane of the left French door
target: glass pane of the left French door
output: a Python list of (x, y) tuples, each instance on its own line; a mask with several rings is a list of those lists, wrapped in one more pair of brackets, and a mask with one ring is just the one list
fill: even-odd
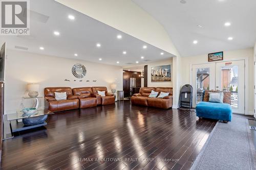
[(209, 90), (210, 68), (197, 68), (197, 103), (203, 100), (203, 91)]

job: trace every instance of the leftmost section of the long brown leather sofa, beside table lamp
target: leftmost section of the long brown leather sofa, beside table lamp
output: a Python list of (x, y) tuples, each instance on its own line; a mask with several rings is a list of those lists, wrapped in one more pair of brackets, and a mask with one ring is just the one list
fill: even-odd
[[(67, 100), (57, 101), (54, 92), (67, 92)], [(79, 108), (78, 96), (74, 96), (70, 87), (47, 87), (45, 88), (46, 107), (52, 111), (62, 111)]]

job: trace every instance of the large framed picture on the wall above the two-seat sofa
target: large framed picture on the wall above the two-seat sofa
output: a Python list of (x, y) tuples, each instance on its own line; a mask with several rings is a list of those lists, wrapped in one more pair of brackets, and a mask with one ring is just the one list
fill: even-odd
[(151, 82), (172, 82), (171, 65), (151, 67)]

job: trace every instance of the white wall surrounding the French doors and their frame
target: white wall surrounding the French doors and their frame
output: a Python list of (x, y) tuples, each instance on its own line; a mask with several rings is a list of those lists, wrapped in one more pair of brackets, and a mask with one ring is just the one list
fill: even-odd
[[(249, 59), (249, 75), (245, 75), (249, 79), (249, 96), (248, 96), (248, 105), (249, 105), (249, 114), (253, 113), (253, 93), (254, 91), (254, 65), (253, 65), (253, 48), (248, 48), (244, 50), (237, 50), (237, 51), (227, 51), (224, 52), (224, 61), (228, 61), (230, 59), (239, 59), (239, 58), (246, 58)], [(190, 84), (190, 65), (191, 64), (200, 64), (200, 63), (207, 63), (208, 62), (208, 54), (200, 55), (200, 56), (192, 56), (192, 57), (181, 57), (180, 67), (181, 67), (181, 86), (184, 84)], [(248, 113), (246, 113), (248, 114)]]

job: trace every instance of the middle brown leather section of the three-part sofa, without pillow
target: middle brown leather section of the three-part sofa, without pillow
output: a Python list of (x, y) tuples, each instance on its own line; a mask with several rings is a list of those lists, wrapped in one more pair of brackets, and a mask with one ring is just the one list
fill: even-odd
[(97, 99), (92, 97), (92, 87), (73, 88), (73, 94), (80, 100), (80, 109), (97, 106)]

